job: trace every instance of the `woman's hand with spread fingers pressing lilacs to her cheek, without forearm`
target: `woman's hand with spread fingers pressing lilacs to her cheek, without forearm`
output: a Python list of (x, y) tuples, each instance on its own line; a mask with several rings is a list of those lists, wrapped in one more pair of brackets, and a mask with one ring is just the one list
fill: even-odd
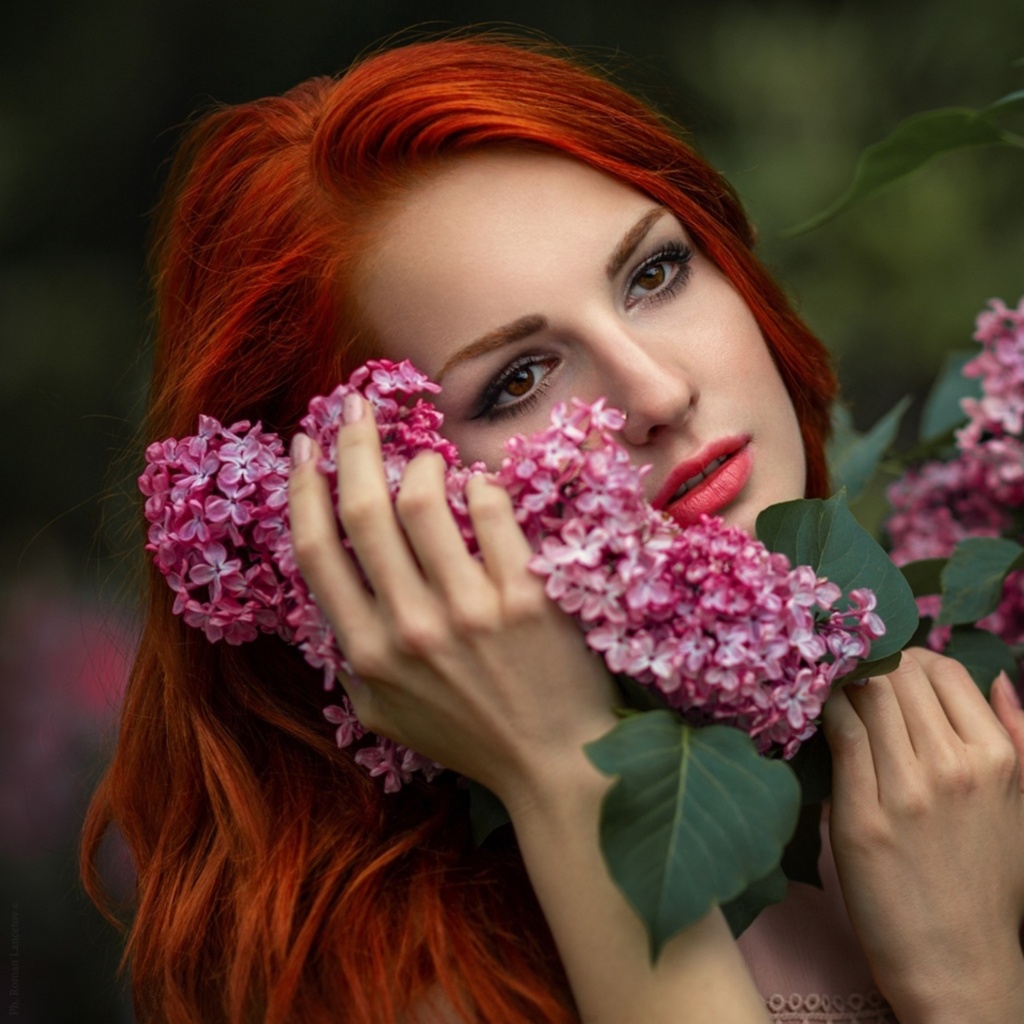
[[(361, 398), (338, 439), (337, 516), (307, 438), (290, 487), (295, 555), (358, 675), (346, 689), (369, 729), (477, 779), (507, 804), (532, 799), (561, 758), (614, 724), (613, 686), (579, 627), (526, 567), (505, 490), (467, 487), (482, 554), (471, 557), (444, 496), (439, 456), (410, 464), (394, 505), (376, 423)], [(530, 795), (530, 796), (527, 796)], [(510, 810), (512, 808), (510, 807)]]

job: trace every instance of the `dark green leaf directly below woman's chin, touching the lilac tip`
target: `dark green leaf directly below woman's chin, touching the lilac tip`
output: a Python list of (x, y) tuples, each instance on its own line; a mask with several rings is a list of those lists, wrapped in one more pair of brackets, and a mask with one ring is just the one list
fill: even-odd
[(871, 645), (871, 660), (901, 650), (918, 626), (918, 606), (903, 574), (854, 518), (840, 493), (822, 501), (801, 499), (772, 505), (758, 516), (757, 532), (772, 551), (794, 565), (810, 565), (848, 594), (868, 587), (886, 635)]

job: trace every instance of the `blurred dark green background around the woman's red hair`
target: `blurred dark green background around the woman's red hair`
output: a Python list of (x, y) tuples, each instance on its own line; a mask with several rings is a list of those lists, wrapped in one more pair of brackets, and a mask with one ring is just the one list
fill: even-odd
[(1024, 291), (1020, 152), (953, 155), (781, 236), (902, 118), (1024, 87), (1020, 0), (38, 0), (3, 22), (0, 1009), (25, 1022), (131, 1019), (75, 843), (131, 652), (147, 215), (196, 109), (339, 71), (410, 27), (580, 47), (737, 186), (861, 427), (927, 388), (988, 298)]

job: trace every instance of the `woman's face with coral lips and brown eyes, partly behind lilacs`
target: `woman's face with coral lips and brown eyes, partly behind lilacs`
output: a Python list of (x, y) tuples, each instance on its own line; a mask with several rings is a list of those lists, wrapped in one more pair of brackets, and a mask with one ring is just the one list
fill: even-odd
[(682, 525), (753, 531), (804, 494), (785, 386), (750, 309), (664, 207), (575, 161), (460, 159), (389, 212), (358, 300), (392, 359), (443, 385), (443, 432), (497, 466), (551, 408), (604, 395), (650, 464), (647, 497)]

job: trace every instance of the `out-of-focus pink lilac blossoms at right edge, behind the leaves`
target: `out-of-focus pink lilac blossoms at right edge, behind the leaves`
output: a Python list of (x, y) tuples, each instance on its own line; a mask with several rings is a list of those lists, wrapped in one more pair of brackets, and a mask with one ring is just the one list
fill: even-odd
[[(956, 454), (908, 470), (889, 487), (886, 526), (897, 565), (945, 558), (969, 537), (1014, 537), (1024, 507), (1024, 299), (1016, 309), (993, 299), (974, 334), (982, 351), (963, 370), (980, 378), (982, 397), (962, 401), (968, 423), (956, 431)], [(1015, 540), (1024, 542), (1024, 537)], [(919, 599), (935, 615), (938, 597)], [(996, 610), (979, 624), (1011, 644), (1024, 643), (1024, 572), (1006, 581)], [(933, 631), (942, 647), (948, 630)]]

